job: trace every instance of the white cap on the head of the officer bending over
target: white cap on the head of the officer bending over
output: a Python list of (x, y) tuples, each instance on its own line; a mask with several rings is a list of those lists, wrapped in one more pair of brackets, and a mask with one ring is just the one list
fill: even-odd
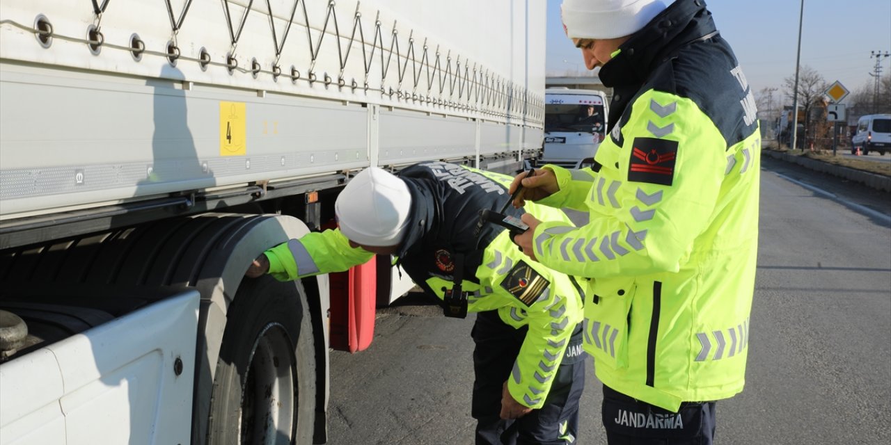
[(405, 182), (378, 167), (364, 169), (334, 202), (340, 232), (364, 246), (398, 246), (408, 228), (412, 195)]

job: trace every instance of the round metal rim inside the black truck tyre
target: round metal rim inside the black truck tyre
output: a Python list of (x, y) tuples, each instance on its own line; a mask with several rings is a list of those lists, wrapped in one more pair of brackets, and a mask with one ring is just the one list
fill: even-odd
[(257, 336), (241, 396), (241, 443), (290, 443), (297, 425), (294, 347), (278, 323)]

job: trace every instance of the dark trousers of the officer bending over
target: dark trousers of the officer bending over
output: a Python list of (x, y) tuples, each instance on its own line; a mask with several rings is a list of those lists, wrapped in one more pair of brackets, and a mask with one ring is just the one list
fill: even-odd
[[(502, 386), (511, 376), (527, 328), (504, 324), (498, 312), (479, 312), (471, 336), (473, 351), (473, 406), (477, 419), (476, 443), (566, 445), (578, 437), (578, 399), (584, 389), (585, 353), (564, 358), (544, 400), (544, 407), (519, 419), (504, 420), (501, 414)], [(582, 344), (581, 324), (573, 332), (570, 346)], [(572, 348), (578, 351), (578, 348)], [(569, 346), (567, 351), (570, 351)], [(571, 438), (571, 439), (570, 439)]]

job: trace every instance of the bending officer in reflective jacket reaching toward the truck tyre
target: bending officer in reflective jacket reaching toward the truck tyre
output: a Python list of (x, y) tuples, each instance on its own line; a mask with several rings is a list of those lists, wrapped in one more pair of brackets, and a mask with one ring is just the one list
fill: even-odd
[[(471, 333), (477, 443), (572, 443), (584, 386), (581, 287), (522, 255), (503, 227), (479, 224), (481, 210), (510, 199), (510, 182), (444, 162), (398, 176), (367, 168), (337, 198), (337, 230), (273, 247), (247, 275), (298, 279), (396, 255), (417, 285), (444, 300), (446, 314), (479, 312)], [(570, 223), (546, 206), (526, 211)]]

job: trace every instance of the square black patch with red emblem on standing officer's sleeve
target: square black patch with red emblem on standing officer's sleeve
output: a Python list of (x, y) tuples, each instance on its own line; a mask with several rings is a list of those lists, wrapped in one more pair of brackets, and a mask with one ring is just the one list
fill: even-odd
[(677, 158), (677, 141), (634, 138), (631, 162), (628, 163), (628, 181), (671, 185), (674, 158)]

